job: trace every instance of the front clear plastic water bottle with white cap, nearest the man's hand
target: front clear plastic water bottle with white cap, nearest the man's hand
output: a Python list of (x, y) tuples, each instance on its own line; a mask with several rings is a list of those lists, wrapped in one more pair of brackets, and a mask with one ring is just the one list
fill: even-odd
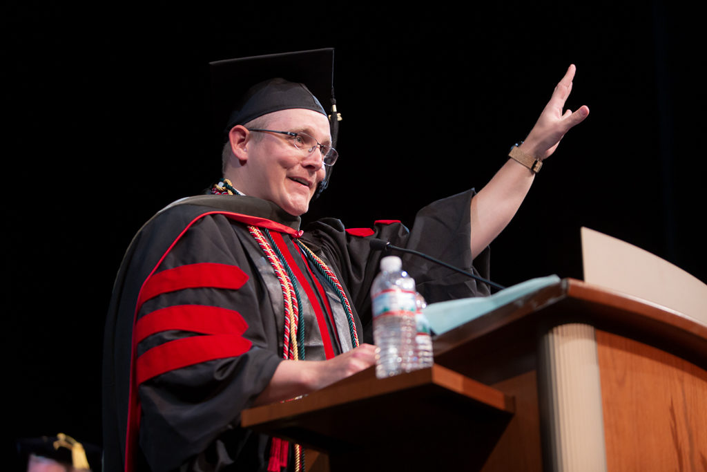
[(402, 270), (395, 255), (380, 260), (380, 274), (370, 289), (373, 301), (375, 376), (379, 379), (409, 371), (415, 339), (415, 281)]

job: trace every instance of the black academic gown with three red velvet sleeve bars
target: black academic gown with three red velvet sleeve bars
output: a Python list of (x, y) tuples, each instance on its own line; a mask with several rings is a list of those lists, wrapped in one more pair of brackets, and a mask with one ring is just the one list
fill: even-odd
[[(175, 202), (143, 226), (115, 281), (103, 362), (104, 466), (133, 471), (264, 471), (269, 437), (240, 427), (240, 412), (283, 359), (284, 301), (247, 224), (269, 229), (296, 277), (305, 359), (351, 349), (339, 297), (302, 257), (301, 238), (336, 273), (361, 342), (372, 343), (370, 285), (382, 238), (489, 277), (489, 251), (472, 265), (473, 190), (422, 209), (412, 231), (399, 221), (344, 229), (300, 219), (252, 197), (202, 195)], [(489, 294), (484, 284), (415, 256), (403, 267), (428, 302)], [(131, 439), (132, 438), (132, 439)]]

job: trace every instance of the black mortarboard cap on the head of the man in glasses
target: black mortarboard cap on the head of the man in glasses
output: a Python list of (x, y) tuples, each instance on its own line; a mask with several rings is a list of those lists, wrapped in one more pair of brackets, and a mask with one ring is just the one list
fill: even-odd
[(327, 115), (334, 104), (333, 48), (226, 59), (210, 65), (214, 124), (221, 133), (288, 108)]

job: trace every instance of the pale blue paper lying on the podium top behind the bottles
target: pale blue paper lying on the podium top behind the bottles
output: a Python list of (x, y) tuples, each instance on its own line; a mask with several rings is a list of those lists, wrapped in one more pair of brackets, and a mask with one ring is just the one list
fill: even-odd
[(531, 292), (559, 282), (560, 277), (557, 275), (538, 277), (537, 279), (515, 284), (513, 287), (503, 289), (489, 297), (472, 297), (429, 304), (423, 310), (423, 313), (430, 322), (434, 333), (442, 334), (457, 326), (462, 326), (468, 321), (479, 318), (479, 316), (489, 313), (489, 311), (493, 311), (499, 306), (507, 305)]

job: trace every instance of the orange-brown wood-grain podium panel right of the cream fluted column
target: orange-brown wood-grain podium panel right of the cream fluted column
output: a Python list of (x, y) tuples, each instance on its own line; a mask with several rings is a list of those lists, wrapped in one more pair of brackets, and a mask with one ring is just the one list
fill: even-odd
[(597, 330), (609, 471), (707, 471), (707, 372)]

